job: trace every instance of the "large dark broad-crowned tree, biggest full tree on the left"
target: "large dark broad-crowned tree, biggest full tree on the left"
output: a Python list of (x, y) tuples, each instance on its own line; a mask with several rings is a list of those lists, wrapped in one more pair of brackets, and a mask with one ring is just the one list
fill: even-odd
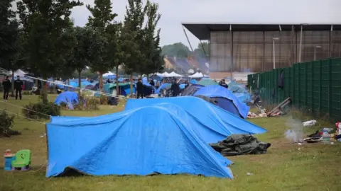
[[(70, 53), (65, 46), (65, 31), (72, 28), (72, 8), (81, 6), (80, 1), (69, 0), (21, 0), (17, 3), (23, 27), (26, 58), (35, 74), (43, 79), (52, 76), (60, 65), (66, 65)], [(43, 103), (48, 102), (43, 83)]]

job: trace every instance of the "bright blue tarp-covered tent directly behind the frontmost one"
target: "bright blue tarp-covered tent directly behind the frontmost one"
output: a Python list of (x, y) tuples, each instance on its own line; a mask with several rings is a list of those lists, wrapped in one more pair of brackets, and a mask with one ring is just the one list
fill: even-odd
[[(247, 120), (233, 115), (226, 110), (194, 96), (181, 96), (175, 98), (155, 99), (128, 99), (125, 110), (137, 109), (149, 105), (158, 105), (172, 110), (171, 105), (178, 105), (191, 116), (199, 120), (202, 125), (212, 129), (213, 132), (227, 137), (230, 134), (261, 134), (266, 129), (258, 127)], [(156, 117), (152, 117), (155, 119)], [(183, 118), (183, 117), (181, 117)], [(216, 142), (211, 139), (211, 142)]]

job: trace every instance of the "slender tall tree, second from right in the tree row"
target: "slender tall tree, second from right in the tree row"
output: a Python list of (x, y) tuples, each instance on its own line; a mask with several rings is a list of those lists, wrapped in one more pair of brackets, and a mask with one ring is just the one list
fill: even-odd
[(133, 73), (140, 72), (143, 69), (145, 61), (142, 50), (144, 37), (144, 17), (146, 6), (143, 6), (142, 0), (128, 0), (126, 6), (126, 16), (121, 32), (121, 50), (124, 52), (124, 70), (130, 75), (130, 89), (132, 96)]

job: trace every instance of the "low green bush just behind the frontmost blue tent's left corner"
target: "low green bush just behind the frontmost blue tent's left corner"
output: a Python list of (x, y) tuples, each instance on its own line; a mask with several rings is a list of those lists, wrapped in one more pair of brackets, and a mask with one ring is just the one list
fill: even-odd
[[(36, 111), (36, 112), (34, 112)], [(49, 116), (60, 115), (60, 106), (54, 103), (30, 103), (23, 107), (23, 115), (33, 119), (49, 119)]]

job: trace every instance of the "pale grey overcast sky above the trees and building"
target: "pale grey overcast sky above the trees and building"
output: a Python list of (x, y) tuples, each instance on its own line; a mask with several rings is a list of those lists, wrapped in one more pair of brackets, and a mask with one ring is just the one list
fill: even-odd
[[(1, 0), (0, 0), (1, 1)], [(94, 0), (80, 0), (93, 4)], [(341, 0), (151, 0), (162, 14), (161, 45), (183, 42), (188, 45), (181, 23), (341, 23)], [(112, 0), (122, 21), (127, 0)], [(87, 23), (85, 6), (74, 8), (75, 25)], [(188, 32), (190, 43), (199, 40)]]

